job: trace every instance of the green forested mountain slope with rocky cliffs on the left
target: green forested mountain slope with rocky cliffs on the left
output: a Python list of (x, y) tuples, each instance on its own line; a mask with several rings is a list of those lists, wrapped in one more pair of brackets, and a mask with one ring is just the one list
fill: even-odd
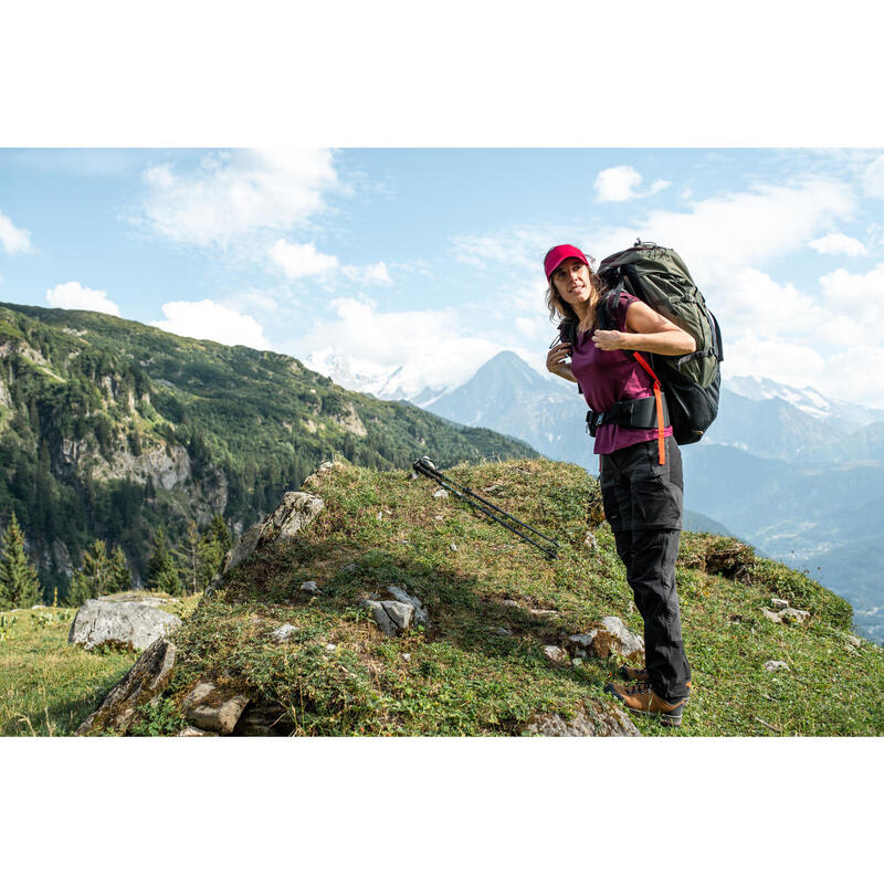
[(44, 590), (93, 538), (144, 575), (151, 534), (234, 534), (336, 453), (379, 469), (536, 456), (523, 442), (354, 393), (296, 359), (84, 311), (0, 304), (0, 523)]

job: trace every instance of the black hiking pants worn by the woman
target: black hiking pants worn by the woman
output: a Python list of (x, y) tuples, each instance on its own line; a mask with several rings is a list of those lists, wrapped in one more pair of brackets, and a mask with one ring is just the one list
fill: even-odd
[(651, 687), (673, 703), (687, 696), (691, 680), (675, 589), (684, 492), (682, 455), (670, 436), (665, 464), (659, 462), (656, 441), (602, 454), (599, 461), (604, 516), (644, 620)]

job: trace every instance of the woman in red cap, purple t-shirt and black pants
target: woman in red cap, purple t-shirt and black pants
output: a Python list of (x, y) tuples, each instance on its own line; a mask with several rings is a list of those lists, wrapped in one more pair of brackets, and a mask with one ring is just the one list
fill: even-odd
[[(576, 344), (556, 344), (547, 369), (577, 383), (592, 411), (653, 397), (653, 380), (632, 358), (634, 350), (680, 356), (696, 349), (691, 335), (625, 292), (612, 312), (617, 329), (598, 329), (596, 311), (604, 286), (576, 246), (550, 249), (544, 270), (550, 316), (578, 322)], [(675, 589), (684, 483), (671, 427), (663, 438), (659, 441), (657, 428), (617, 423), (601, 423), (596, 432), (604, 515), (644, 620), (645, 643), (645, 667), (622, 666), (618, 672), (632, 683), (607, 684), (604, 690), (630, 711), (677, 727), (691, 693)]]

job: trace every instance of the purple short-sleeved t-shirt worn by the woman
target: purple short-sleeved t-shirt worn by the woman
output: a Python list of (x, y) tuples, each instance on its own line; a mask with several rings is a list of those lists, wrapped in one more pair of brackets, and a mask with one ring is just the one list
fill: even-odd
[[(613, 312), (613, 319), (620, 332), (627, 330), (627, 311), (639, 298), (623, 292)], [(629, 355), (627, 350), (600, 350), (592, 343), (592, 332), (578, 334), (571, 352), (571, 371), (583, 391), (587, 404), (593, 411), (607, 411), (621, 399), (643, 399), (654, 394), (651, 376)], [(666, 427), (663, 435), (672, 435), (672, 427)], [(650, 430), (633, 427), (618, 427), (606, 423), (596, 433), (596, 454), (610, 454), (613, 451), (650, 442), (657, 438), (655, 428)]]

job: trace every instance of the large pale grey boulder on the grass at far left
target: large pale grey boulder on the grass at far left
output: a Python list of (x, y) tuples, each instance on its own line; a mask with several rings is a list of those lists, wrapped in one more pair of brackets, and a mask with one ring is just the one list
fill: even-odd
[(175, 614), (158, 610), (162, 599), (120, 594), (126, 600), (114, 596), (87, 599), (71, 623), (67, 641), (88, 649), (112, 644), (141, 651), (181, 623)]

